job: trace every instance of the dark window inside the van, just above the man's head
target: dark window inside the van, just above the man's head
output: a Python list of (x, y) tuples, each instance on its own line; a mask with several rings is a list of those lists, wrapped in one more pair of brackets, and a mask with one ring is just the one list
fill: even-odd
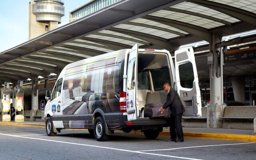
[(163, 85), (165, 82), (171, 84), (169, 68), (152, 70), (151, 73), (154, 90), (163, 90)]

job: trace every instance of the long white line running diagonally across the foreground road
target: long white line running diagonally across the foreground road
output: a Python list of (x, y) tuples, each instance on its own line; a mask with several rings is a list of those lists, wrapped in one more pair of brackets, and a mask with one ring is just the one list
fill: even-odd
[(12, 137), (18, 137), (18, 138), (27, 138), (27, 139), (33, 139), (33, 140), (44, 140), (44, 141), (58, 142), (58, 143), (65, 143), (65, 144), (74, 144), (74, 145), (79, 145), (79, 146), (88, 146), (88, 147), (96, 147), (96, 148), (105, 148), (105, 149), (110, 149), (110, 150), (118, 150), (118, 151), (132, 152), (132, 153), (139, 153), (139, 154), (148, 154), (148, 155), (154, 155), (154, 156), (163, 156), (163, 157), (180, 158), (180, 159), (186, 159), (186, 160), (202, 160), (202, 159), (187, 158), (187, 157), (169, 156), (169, 155), (164, 155), (164, 154), (154, 154), (154, 153), (145, 153), (145, 152), (132, 151), (132, 150), (124, 150), (124, 149), (119, 149), (119, 148), (110, 148), (110, 147), (94, 146), (94, 145), (88, 145), (88, 144), (79, 144), (79, 143), (63, 142), (63, 141), (58, 141), (58, 140), (47, 140), (47, 139), (41, 139), (41, 138), (22, 137), (22, 136), (10, 135), (10, 134), (0, 134), (0, 135), (3, 135), (3, 136), (12, 136)]

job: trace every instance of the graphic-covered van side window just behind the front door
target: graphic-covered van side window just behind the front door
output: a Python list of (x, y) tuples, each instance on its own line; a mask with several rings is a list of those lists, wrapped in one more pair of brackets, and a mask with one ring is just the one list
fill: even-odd
[(80, 96), (80, 92), (82, 91), (81, 73), (66, 76), (63, 90), (65, 98)]

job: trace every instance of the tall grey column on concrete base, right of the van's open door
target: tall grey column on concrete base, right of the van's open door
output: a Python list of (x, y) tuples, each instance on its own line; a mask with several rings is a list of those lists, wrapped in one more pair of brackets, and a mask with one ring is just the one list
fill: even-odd
[(222, 36), (212, 34), (212, 64), (210, 64), (210, 106), (207, 108), (207, 128), (221, 128), (224, 114), (223, 104), (223, 52), (222, 48), (216, 48), (216, 44), (222, 41)]

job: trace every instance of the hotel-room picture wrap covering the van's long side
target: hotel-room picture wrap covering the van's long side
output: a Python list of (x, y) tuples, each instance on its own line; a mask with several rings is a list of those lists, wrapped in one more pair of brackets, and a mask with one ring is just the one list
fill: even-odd
[[(91, 115), (97, 108), (104, 113), (119, 112), (119, 66), (116, 58), (100, 60), (82, 66), (83, 72), (77, 68), (67, 69), (64, 78), (62, 96), (63, 124), (66, 128), (84, 128), (88, 120), (80, 120), (79, 115)], [(81, 68), (81, 66), (78, 66)], [(78, 115), (72, 117), (71, 115)], [(91, 120), (92, 118), (90, 118)]]

